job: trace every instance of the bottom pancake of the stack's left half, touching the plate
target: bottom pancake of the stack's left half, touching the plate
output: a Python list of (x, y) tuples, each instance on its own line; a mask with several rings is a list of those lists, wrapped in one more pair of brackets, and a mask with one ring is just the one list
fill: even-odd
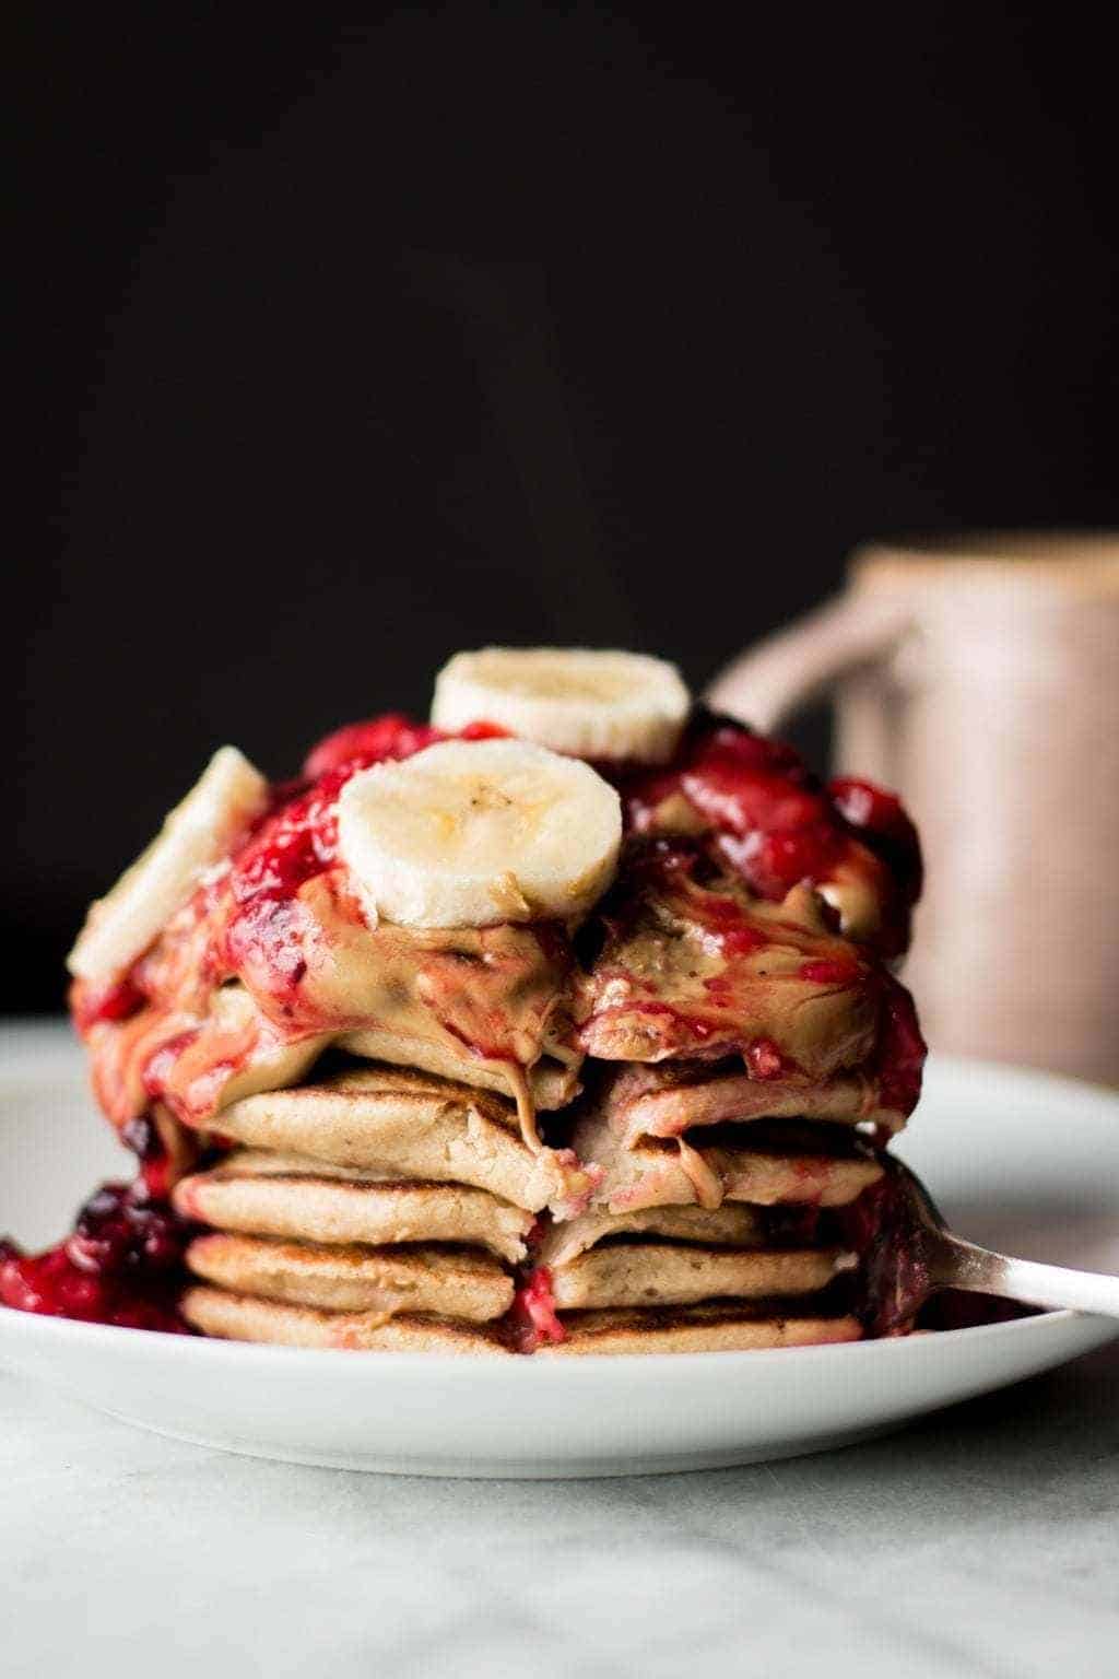
[(277, 1347), (334, 1347), (349, 1352), (466, 1353), (507, 1357), (508, 1347), (481, 1325), (404, 1315), (386, 1323), (379, 1313), (319, 1311), (280, 1305), (198, 1284), (180, 1301), (186, 1321), (233, 1342), (267, 1342)]

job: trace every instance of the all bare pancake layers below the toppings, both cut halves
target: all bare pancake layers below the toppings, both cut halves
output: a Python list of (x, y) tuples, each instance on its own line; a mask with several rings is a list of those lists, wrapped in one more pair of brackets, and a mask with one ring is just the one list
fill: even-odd
[(844, 1209), (882, 1167), (847, 1125), (728, 1123), (735, 1078), (611, 1071), (542, 1123), (569, 1147), (539, 1150), (512, 1101), (398, 1066), (247, 1096), (221, 1113), (235, 1147), (174, 1189), (201, 1227), (183, 1315), (386, 1352), (856, 1340)]

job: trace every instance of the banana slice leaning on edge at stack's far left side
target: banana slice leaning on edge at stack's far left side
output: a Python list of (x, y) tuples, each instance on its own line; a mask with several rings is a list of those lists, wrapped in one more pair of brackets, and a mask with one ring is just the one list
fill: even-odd
[(235, 745), (215, 752), (148, 850), (91, 905), (70, 974), (101, 986), (131, 967), (267, 801), (268, 782)]

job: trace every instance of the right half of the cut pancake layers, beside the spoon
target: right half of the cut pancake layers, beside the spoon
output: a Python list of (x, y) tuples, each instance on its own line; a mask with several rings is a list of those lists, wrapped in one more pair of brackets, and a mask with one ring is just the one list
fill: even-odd
[[(634, 1075), (607, 1076), (574, 1127), (601, 1170), (592, 1204), (552, 1224), (528, 1303), (552, 1353), (700, 1352), (857, 1340), (856, 1224), (882, 1180), (874, 1152), (841, 1125), (802, 1120), (684, 1125), (638, 1135)], [(718, 1070), (688, 1068), (683, 1118), (718, 1113)], [(733, 1076), (733, 1075), (731, 1075)], [(866, 1202), (864, 1202), (866, 1206)]]

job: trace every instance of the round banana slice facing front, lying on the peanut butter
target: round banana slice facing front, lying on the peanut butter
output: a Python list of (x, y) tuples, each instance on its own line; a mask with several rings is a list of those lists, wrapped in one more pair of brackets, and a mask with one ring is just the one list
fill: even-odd
[(614, 876), (614, 789), (527, 740), (446, 740), (339, 796), (337, 843), (369, 918), (488, 927), (582, 915)]

